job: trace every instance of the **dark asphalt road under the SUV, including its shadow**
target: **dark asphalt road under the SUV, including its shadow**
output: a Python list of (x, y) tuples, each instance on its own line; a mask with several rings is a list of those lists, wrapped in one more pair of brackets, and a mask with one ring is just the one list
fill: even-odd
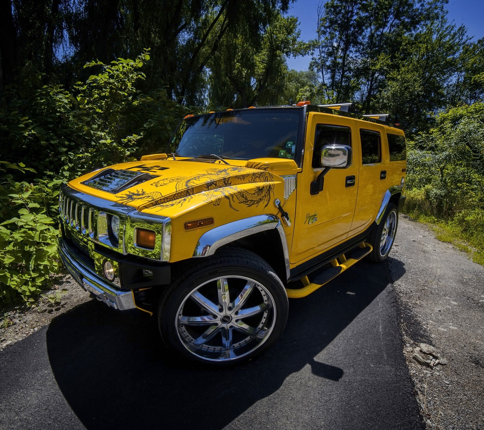
[(0, 429), (423, 429), (387, 263), (289, 305), (272, 349), (224, 370), (170, 356), (141, 312), (77, 306), (0, 352)]

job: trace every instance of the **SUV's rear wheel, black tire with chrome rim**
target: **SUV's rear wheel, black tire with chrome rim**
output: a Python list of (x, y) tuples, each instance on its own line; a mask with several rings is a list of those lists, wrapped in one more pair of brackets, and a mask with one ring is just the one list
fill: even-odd
[(381, 263), (386, 260), (392, 251), (397, 228), (398, 208), (393, 203), (389, 203), (381, 222), (375, 226), (368, 237), (368, 243), (373, 247), (373, 251), (368, 254), (370, 261)]

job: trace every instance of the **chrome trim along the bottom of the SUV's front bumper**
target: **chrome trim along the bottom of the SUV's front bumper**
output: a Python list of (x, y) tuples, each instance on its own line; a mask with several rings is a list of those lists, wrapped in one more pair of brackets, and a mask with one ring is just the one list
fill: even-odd
[[(101, 300), (114, 309), (124, 311), (126, 309), (136, 308), (131, 291), (117, 290), (111, 282), (106, 281), (95, 273), (91, 267), (86, 266), (84, 262), (71, 251), (61, 237), (58, 238), (58, 242), (62, 263), (64, 263), (68, 272), (82, 288), (94, 294), (98, 300)], [(78, 279), (79, 276), (81, 279)]]

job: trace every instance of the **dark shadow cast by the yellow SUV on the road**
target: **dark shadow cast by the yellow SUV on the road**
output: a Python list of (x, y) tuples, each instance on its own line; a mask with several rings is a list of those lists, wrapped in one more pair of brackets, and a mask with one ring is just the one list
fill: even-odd
[(172, 356), (154, 318), (97, 301), (52, 321), (48, 356), (62, 394), (88, 429), (221, 429), (307, 365), (339, 384), (345, 370), (315, 356), (389, 282), (386, 263), (362, 262), (309, 297), (290, 300), (279, 340), (238, 367), (207, 369)]

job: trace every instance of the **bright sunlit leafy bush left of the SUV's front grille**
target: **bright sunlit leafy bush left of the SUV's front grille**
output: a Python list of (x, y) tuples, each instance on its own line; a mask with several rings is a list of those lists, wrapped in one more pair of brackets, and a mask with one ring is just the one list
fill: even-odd
[[(25, 172), (22, 165), (7, 167)], [(53, 187), (60, 182), (15, 182), (8, 174), (0, 185), (0, 302), (9, 303), (18, 296), (31, 303), (35, 295), (55, 281), (51, 274), (59, 272), (59, 232), (49, 204), (59, 193)]]

